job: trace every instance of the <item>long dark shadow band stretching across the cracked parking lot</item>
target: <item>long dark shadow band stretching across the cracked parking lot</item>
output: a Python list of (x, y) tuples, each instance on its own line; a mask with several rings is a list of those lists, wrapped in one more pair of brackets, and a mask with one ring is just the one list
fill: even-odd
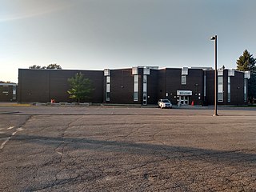
[(91, 150), (102, 153), (136, 154), (140, 156), (164, 157), (166, 159), (182, 158), (191, 161), (205, 159), (210, 162), (251, 165), (256, 164), (256, 154), (250, 150), (210, 150), (186, 146), (167, 146), (150, 143), (106, 141), (93, 138), (56, 138), (36, 135), (18, 134), (12, 141), (34, 143), (49, 147), (64, 147), (66, 152), (72, 150)]

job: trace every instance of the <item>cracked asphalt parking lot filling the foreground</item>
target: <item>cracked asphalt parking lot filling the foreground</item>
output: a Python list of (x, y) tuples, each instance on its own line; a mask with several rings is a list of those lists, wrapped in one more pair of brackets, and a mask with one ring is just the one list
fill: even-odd
[(0, 106), (0, 191), (255, 191), (256, 110)]

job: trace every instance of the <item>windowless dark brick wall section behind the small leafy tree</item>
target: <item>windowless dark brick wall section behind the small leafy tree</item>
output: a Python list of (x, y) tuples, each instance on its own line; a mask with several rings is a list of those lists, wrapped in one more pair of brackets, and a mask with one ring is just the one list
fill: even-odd
[(18, 102), (75, 102), (69, 98), (68, 78), (82, 72), (94, 86), (92, 97), (82, 102), (99, 102), (102, 100), (103, 71), (95, 70), (18, 70)]

